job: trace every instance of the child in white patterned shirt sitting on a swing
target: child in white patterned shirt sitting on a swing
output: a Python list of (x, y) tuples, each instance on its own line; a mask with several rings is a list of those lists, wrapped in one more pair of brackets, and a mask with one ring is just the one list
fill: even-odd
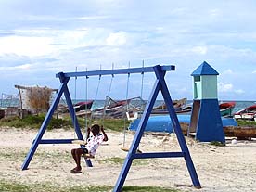
[[(100, 134), (100, 131), (102, 132), (102, 134)], [(93, 135), (90, 136), (90, 132), (92, 132)], [(105, 133), (103, 126), (100, 127), (98, 124), (94, 124), (91, 128), (88, 127), (86, 143), (84, 144), (85, 147), (73, 148), (71, 150), (71, 154), (73, 159), (75, 160), (76, 167), (70, 172), (82, 173), (81, 156), (83, 154), (89, 154), (89, 156), (94, 157), (96, 154), (96, 149), (103, 141), (108, 141), (108, 136)]]

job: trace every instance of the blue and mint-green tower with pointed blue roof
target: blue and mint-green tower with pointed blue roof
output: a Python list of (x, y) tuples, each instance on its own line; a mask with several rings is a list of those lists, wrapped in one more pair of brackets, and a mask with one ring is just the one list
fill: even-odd
[(191, 74), (194, 100), (189, 129), (196, 130), (196, 139), (201, 142), (225, 143), (218, 101), (217, 75), (219, 73), (206, 61)]

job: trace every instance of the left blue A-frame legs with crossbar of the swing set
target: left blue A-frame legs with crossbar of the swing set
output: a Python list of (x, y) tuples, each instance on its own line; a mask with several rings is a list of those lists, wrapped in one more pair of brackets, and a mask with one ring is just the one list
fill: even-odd
[[(29, 153), (26, 156), (26, 159), (24, 160), (24, 162), (21, 166), (22, 170), (27, 170), (28, 169), (28, 166), (29, 166), (29, 164), (32, 160), (32, 157), (33, 157), (33, 155), (34, 155), (34, 153), (35, 153), (39, 144), (57, 144), (57, 143), (58, 144), (63, 144), (63, 143), (70, 143), (71, 142), (70, 139), (66, 139), (66, 140), (65, 139), (42, 140), (42, 137), (45, 134), (46, 127), (49, 124), (49, 122), (50, 122), (50, 120), (51, 120), (51, 118), (54, 114), (55, 109), (57, 109), (60, 97), (62, 96), (63, 93), (64, 93), (64, 95), (66, 97), (66, 100), (67, 100), (68, 108), (70, 110), (70, 117), (71, 117), (72, 122), (74, 124), (74, 128), (75, 128), (75, 132), (77, 134), (77, 137), (78, 137), (78, 139), (83, 139), (83, 134), (81, 133), (78, 121), (76, 119), (76, 116), (74, 115), (74, 109), (72, 107), (70, 92), (69, 92), (69, 89), (68, 89), (68, 86), (67, 86), (67, 83), (69, 82), (70, 78), (65, 78), (63, 76), (63, 73), (59, 73), (59, 80), (60, 80), (61, 85), (58, 89), (57, 96), (55, 97), (50, 109), (48, 110), (48, 112), (45, 116), (45, 120), (42, 123), (41, 128), (40, 128), (38, 134), (36, 135), (36, 137), (35, 137), (35, 139), (32, 143), (32, 147), (31, 147)], [(90, 160), (85, 160), (85, 161), (86, 161), (86, 164), (87, 164), (88, 167), (92, 167), (92, 163), (91, 163)]]

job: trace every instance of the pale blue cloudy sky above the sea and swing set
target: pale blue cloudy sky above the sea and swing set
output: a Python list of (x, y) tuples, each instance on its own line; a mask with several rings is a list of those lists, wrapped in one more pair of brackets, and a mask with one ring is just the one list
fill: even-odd
[[(58, 88), (60, 71), (144, 61), (174, 65), (166, 74), (172, 98), (193, 99), (191, 73), (207, 61), (219, 72), (219, 100), (255, 101), (255, 10), (252, 0), (0, 0), (0, 92)], [(106, 76), (70, 79), (69, 87), (72, 98), (147, 99), (154, 81), (152, 73), (117, 75), (112, 85)]]

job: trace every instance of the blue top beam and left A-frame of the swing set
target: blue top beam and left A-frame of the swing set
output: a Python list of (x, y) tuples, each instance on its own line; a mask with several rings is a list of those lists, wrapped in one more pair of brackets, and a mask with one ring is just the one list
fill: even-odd
[[(175, 66), (173, 65), (169, 65), (169, 66), (160, 66), (161, 70), (167, 71), (167, 70), (175, 70)], [(36, 135), (33, 143), (32, 143), (32, 147), (29, 151), (29, 153), (26, 156), (26, 159), (24, 160), (21, 169), (22, 170), (26, 170), (28, 169), (28, 166), (32, 160), (32, 157), (38, 147), (39, 144), (68, 144), (70, 143), (73, 139), (48, 139), (48, 140), (42, 140), (43, 135), (45, 134), (45, 130), (47, 128), (47, 125), (49, 124), (52, 115), (55, 111), (55, 109), (58, 106), (59, 103), (59, 99), (60, 97), (64, 94), (67, 104), (68, 104), (68, 108), (70, 111), (70, 117), (72, 119), (72, 122), (74, 124), (74, 129), (75, 132), (77, 134), (78, 139), (83, 140), (83, 134), (81, 133), (80, 130), (80, 126), (78, 124), (76, 115), (75, 115), (75, 111), (73, 109), (72, 106), (72, 101), (71, 101), (71, 97), (70, 97), (70, 92), (69, 92), (69, 88), (68, 88), (68, 83), (70, 81), (70, 77), (81, 77), (81, 76), (85, 76), (85, 77), (89, 77), (89, 76), (96, 76), (96, 75), (114, 75), (114, 74), (129, 74), (129, 73), (144, 73), (144, 72), (152, 72), (154, 71), (154, 69), (152, 67), (144, 67), (144, 68), (130, 68), (130, 69), (121, 69), (121, 70), (93, 70), (93, 71), (81, 71), (81, 72), (59, 72), (58, 74), (56, 74), (56, 77), (59, 78), (60, 81), (60, 87), (58, 89), (58, 93), (57, 96), (54, 100), (54, 102), (52, 103), (50, 109), (48, 110), (46, 116), (45, 116), (45, 120), (41, 125), (41, 128), (38, 132), (38, 134)], [(92, 162), (91, 160), (85, 159), (85, 162), (87, 164), (88, 167), (92, 167)]]

